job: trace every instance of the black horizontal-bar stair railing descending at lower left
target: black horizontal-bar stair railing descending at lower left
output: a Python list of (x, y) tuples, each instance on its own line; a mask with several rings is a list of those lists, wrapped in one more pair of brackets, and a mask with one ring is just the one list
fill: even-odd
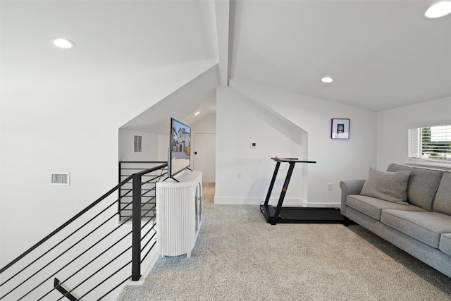
[[(0, 269), (0, 300), (101, 300), (130, 278), (139, 280), (156, 243), (149, 186), (167, 173), (166, 161), (148, 163)], [(130, 202), (118, 211), (121, 188), (128, 186)]]

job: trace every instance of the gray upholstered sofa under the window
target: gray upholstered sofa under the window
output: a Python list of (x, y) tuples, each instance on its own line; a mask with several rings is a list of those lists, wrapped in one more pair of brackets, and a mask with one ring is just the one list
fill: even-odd
[(451, 172), (390, 164), (343, 180), (341, 214), (451, 277)]

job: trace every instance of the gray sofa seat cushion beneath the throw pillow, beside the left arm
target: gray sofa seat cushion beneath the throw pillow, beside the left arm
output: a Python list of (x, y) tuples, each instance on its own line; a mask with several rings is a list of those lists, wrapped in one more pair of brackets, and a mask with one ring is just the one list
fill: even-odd
[(400, 209), (407, 211), (424, 211), (426, 210), (411, 204), (402, 202), (388, 202), (375, 197), (367, 197), (366, 195), (348, 195), (346, 205), (356, 209), (357, 211), (371, 216), (378, 221), (381, 219), (381, 211), (383, 209)]

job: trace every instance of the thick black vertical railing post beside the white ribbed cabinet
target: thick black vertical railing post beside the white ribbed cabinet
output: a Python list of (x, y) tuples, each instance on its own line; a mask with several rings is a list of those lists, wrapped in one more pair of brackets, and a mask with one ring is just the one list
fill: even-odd
[(133, 174), (132, 197), (132, 281), (141, 278), (141, 175)]

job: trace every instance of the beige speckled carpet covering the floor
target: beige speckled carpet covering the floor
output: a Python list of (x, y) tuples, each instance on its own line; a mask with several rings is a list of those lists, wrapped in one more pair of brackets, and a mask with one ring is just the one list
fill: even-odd
[(191, 258), (159, 258), (118, 300), (451, 300), (451, 278), (359, 225), (266, 223), (257, 206), (214, 204)]

